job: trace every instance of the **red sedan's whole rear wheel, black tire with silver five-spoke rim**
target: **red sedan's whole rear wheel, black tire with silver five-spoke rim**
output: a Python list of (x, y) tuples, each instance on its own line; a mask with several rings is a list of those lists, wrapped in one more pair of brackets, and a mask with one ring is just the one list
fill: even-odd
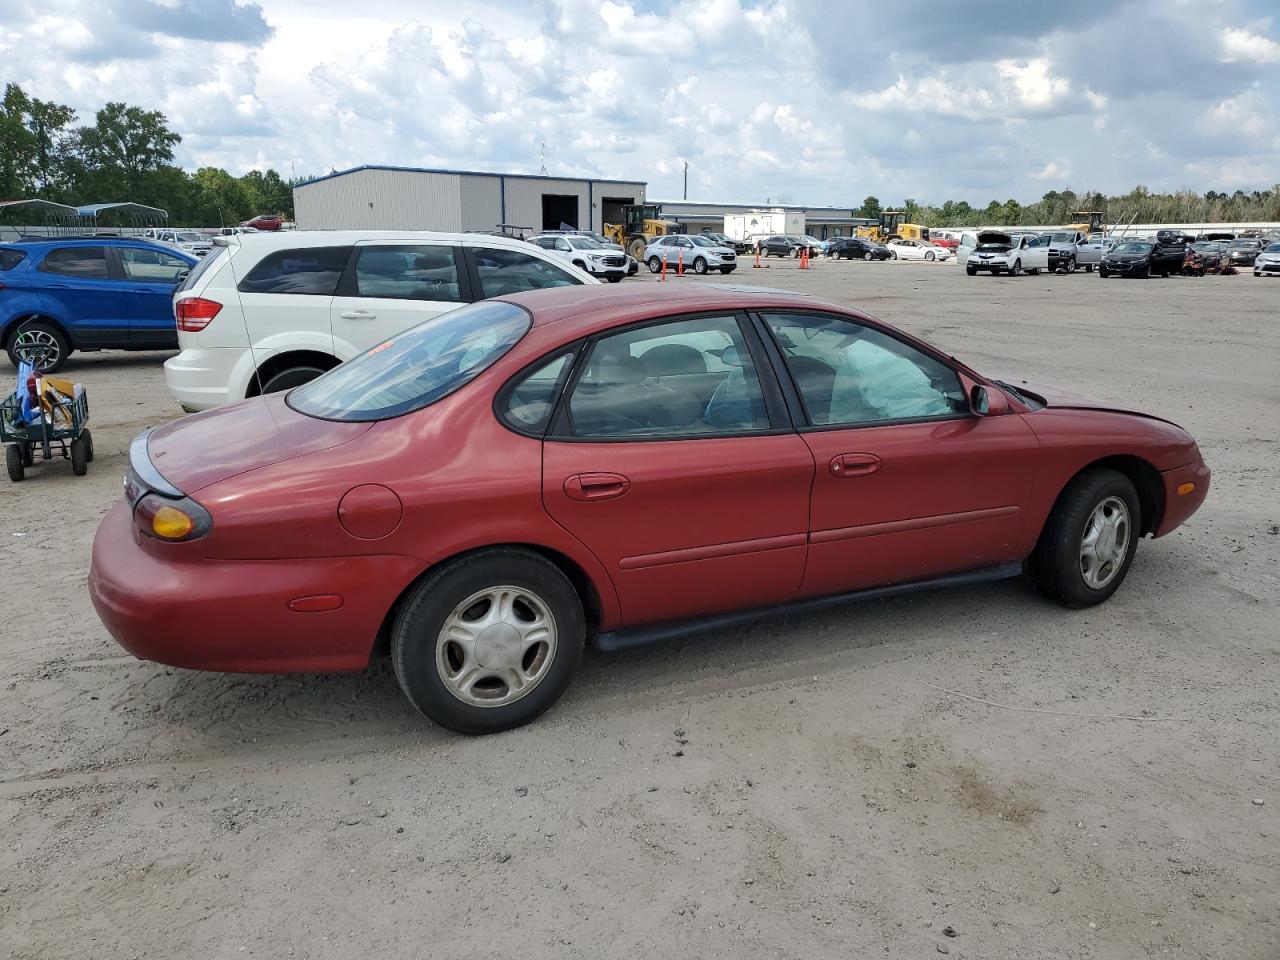
[(392, 631), (392, 663), (424, 716), (458, 733), (497, 733), (559, 699), (585, 635), (581, 599), (556, 564), (486, 550), (413, 589)]

